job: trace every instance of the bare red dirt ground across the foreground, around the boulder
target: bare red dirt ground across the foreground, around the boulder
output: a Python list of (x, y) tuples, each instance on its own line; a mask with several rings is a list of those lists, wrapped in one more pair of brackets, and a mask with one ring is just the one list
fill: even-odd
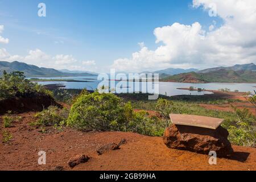
[[(233, 146), (235, 152), (229, 159), (218, 158), (217, 165), (209, 165), (209, 156), (167, 148), (162, 137), (122, 132), (82, 133), (72, 129), (58, 132), (51, 127), (42, 134), (40, 129), (28, 125), (34, 121), (34, 114), (18, 114), (22, 121), (5, 129), (12, 133), (13, 139), (9, 144), (0, 143), (0, 170), (52, 170), (57, 166), (65, 170), (256, 170), (256, 148)], [(1, 127), (1, 133), (2, 130)], [(98, 147), (121, 139), (127, 139), (127, 144), (120, 150), (97, 155)], [(47, 155), (43, 166), (38, 164), (41, 150)], [(69, 168), (68, 160), (78, 154), (89, 155), (91, 159)]]

